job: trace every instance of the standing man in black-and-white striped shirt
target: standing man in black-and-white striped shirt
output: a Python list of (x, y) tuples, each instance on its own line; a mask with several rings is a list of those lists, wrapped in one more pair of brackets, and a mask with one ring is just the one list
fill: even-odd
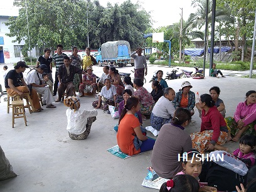
[(64, 64), (64, 61), (63, 61), (64, 56), (67, 56), (65, 53), (62, 53), (62, 50), (63, 50), (63, 46), (57, 45), (57, 53), (53, 56), (53, 63), (56, 66), (53, 96), (56, 95), (57, 89), (58, 89), (58, 82), (59, 82), (58, 81), (58, 69), (61, 65)]

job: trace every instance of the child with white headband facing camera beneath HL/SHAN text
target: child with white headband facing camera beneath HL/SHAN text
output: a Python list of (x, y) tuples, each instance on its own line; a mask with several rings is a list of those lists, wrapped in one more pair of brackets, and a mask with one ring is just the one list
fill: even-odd
[[(201, 161), (201, 154), (196, 149), (189, 149), (188, 151), (183, 152), (182, 156), (182, 166), (183, 171), (177, 173), (179, 174), (189, 174), (198, 180), (198, 176), (202, 171), (202, 161)], [(199, 182), (199, 180), (198, 180)], [(217, 191), (216, 188), (211, 186), (205, 186), (204, 184), (200, 183), (199, 191)]]

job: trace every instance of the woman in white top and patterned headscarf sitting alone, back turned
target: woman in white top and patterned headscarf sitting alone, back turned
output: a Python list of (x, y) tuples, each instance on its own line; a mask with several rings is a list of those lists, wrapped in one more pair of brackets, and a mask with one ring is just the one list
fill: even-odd
[(97, 110), (79, 110), (80, 100), (77, 97), (68, 97), (64, 105), (70, 107), (66, 111), (68, 118), (67, 130), (71, 139), (86, 139), (90, 134), (92, 123), (96, 120)]

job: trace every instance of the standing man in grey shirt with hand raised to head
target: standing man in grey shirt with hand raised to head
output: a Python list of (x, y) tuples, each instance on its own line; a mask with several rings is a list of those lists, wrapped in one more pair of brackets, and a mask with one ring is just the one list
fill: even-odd
[[(137, 55), (136, 55), (137, 53)], [(144, 72), (147, 75), (147, 61), (144, 55), (141, 55), (142, 48), (137, 48), (130, 56), (134, 58), (134, 78), (140, 78), (144, 81)]]

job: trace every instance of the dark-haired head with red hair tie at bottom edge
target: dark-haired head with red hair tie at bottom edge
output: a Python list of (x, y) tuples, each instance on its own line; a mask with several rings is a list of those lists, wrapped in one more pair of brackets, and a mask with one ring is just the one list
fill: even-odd
[(198, 192), (199, 183), (193, 176), (181, 174), (174, 176), (173, 179), (164, 182), (159, 192)]

